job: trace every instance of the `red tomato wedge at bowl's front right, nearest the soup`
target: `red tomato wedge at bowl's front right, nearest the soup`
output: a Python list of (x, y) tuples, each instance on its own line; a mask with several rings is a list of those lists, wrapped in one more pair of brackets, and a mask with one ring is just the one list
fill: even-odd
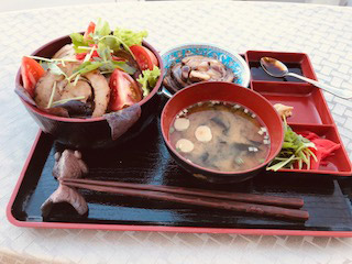
[(142, 90), (136, 81), (127, 73), (114, 69), (110, 76), (109, 109), (118, 111), (142, 100)]

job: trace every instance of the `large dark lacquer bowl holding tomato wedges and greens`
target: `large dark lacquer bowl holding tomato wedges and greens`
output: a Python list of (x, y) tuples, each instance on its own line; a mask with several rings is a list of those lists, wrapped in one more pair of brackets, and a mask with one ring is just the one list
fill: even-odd
[[(69, 43), (72, 43), (70, 37), (63, 36), (40, 47), (32, 55), (51, 58), (61, 47)], [(164, 67), (161, 56), (155, 48), (146, 42), (143, 41), (143, 45), (155, 54), (162, 72), (161, 76), (163, 76)], [(22, 86), (22, 84), (21, 69), (19, 69), (15, 78), (15, 85)], [(43, 112), (22, 99), (21, 101), (40, 128), (44, 132), (52, 134), (61, 143), (70, 147), (110, 147), (119, 142), (123, 142), (136, 136), (148, 123), (154, 120), (160, 105), (160, 97), (156, 95), (156, 92), (161, 87), (161, 84), (162, 77), (158, 79), (151, 94), (139, 102), (142, 108), (142, 113), (138, 122), (134, 123), (133, 127), (131, 127), (117, 141), (112, 141), (111, 130), (105, 118), (62, 118)]]

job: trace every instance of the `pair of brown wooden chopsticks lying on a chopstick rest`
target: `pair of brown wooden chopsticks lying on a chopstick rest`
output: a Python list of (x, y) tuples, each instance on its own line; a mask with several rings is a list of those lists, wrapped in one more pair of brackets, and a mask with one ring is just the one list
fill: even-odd
[(252, 194), (200, 190), (193, 188), (105, 182), (92, 179), (61, 179), (62, 184), (102, 193), (135, 196), (156, 200), (167, 200), (185, 205), (226, 209), (240, 212), (261, 215), (306, 221), (309, 213), (299, 210), (304, 206), (300, 198), (286, 198)]

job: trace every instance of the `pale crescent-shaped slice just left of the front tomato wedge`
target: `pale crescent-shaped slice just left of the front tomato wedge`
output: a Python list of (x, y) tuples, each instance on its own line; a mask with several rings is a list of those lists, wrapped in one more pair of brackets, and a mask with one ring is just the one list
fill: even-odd
[(94, 92), (95, 92), (95, 110), (91, 114), (92, 118), (102, 117), (108, 109), (108, 103), (110, 99), (110, 88), (109, 84), (98, 70), (90, 72), (86, 75), (86, 78), (89, 80)]

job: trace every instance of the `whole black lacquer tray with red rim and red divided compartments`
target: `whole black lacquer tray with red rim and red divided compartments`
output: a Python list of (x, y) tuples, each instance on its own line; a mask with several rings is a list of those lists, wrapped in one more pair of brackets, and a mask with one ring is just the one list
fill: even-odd
[[(285, 63), (296, 63), (306, 77), (317, 79), (306, 54), (248, 52), (245, 59), (251, 66), (267, 55)], [(175, 163), (164, 145), (160, 117), (156, 117), (136, 139), (122, 145), (110, 150), (80, 150), (90, 169), (87, 178), (300, 197), (305, 201), (302, 209), (309, 212), (308, 221), (284, 221), (81, 189), (79, 191), (89, 207), (87, 216), (78, 216), (68, 205), (56, 205), (47, 218), (42, 218), (41, 205), (58, 186), (52, 175), (54, 154), (65, 150), (43, 132), (33, 144), (10, 199), (9, 221), (31, 228), (352, 237), (351, 163), (322, 92), (306, 84), (263, 81), (253, 79), (253, 76), (250, 89), (262, 94), (272, 103), (279, 98), (279, 101), (300, 110), (289, 123), (295, 130), (309, 129), (341, 144), (341, 150), (328, 160), (331, 166), (301, 173), (296, 169), (264, 172), (241, 184), (211, 185), (189, 175)], [(162, 108), (163, 103), (160, 112)]]

